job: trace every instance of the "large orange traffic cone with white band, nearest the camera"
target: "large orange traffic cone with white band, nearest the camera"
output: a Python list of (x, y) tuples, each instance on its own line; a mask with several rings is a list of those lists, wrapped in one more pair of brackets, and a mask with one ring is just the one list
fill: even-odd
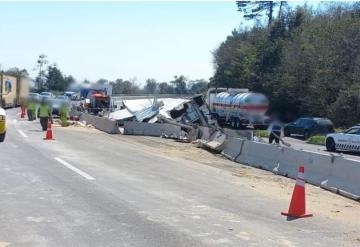
[(289, 211), (281, 212), (282, 215), (304, 218), (310, 217), (312, 214), (306, 213), (305, 210), (305, 180), (304, 180), (304, 166), (299, 166), (299, 173), (296, 178), (296, 184), (294, 187), (293, 195), (289, 206)]

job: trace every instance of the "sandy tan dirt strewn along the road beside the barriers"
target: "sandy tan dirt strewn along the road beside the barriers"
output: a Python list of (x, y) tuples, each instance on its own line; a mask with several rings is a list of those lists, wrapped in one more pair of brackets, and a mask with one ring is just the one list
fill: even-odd
[[(92, 128), (70, 127), (68, 129), (71, 131), (89, 131), (90, 133), (98, 132)], [(171, 159), (181, 162), (188, 160), (192, 164), (207, 165), (221, 169), (223, 172), (229, 172), (233, 176), (238, 177), (249, 190), (260, 193), (267, 198), (282, 200), (284, 205), (288, 205), (290, 202), (295, 184), (294, 179), (230, 161), (220, 154), (211, 153), (189, 143), (148, 136), (109, 135), (109, 137), (119, 139), (119, 141), (126, 142), (128, 145), (134, 145), (144, 152), (149, 152), (153, 155), (164, 158), (171, 157)], [(359, 233), (358, 236), (360, 236), (359, 202), (310, 184), (306, 185), (306, 200), (307, 209), (314, 214), (314, 217), (321, 216), (351, 225), (354, 227), (354, 231)], [(286, 209), (284, 208), (284, 210)], [(280, 214), (280, 212), (278, 213)], [(360, 237), (352, 240), (360, 244)]]

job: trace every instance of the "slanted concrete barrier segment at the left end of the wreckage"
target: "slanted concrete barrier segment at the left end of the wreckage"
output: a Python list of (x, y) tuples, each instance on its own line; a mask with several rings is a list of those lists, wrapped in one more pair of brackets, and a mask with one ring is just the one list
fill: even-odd
[(82, 113), (80, 119), (82, 121), (86, 121), (88, 124), (93, 125), (96, 129), (104, 131), (108, 134), (120, 133), (116, 121), (110, 120), (108, 118)]

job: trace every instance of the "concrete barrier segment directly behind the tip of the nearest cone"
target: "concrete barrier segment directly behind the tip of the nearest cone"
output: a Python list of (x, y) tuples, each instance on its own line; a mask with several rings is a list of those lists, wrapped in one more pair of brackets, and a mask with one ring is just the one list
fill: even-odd
[(329, 154), (283, 147), (274, 173), (295, 179), (299, 165), (303, 165), (306, 182), (319, 186), (329, 177), (332, 161)]

